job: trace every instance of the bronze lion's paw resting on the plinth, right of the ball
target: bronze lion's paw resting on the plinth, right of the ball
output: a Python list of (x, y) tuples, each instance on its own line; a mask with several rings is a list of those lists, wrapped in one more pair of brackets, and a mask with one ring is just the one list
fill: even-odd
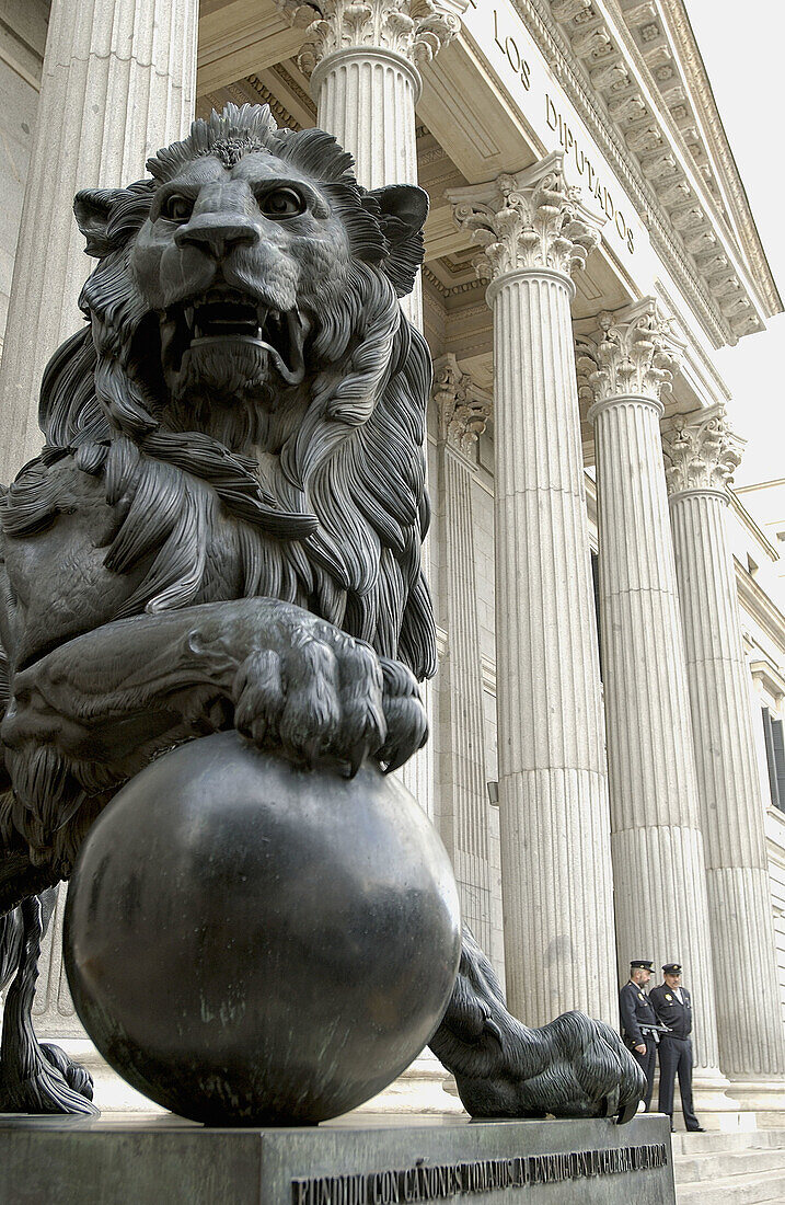
[(527, 1088), (556, 1117), (616, 1117), (628, 1122), (645, 1093), (645, 1077), (619, 1035), (602, 1021), (565, 1012), (539, 1033), (553, 1056)]

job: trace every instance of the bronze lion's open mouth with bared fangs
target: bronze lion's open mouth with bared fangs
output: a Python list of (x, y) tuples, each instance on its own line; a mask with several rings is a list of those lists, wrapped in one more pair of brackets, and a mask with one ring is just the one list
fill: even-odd
[(202, 349), (232, 355), (246, 345), (266, 353), (289, 384), (305, 376), (303, 345), (308, 324), (299, 310), (281, 312), (236, 289), (211, 289), (166, 311), (161, 321), (164, 369), (176, 376)]

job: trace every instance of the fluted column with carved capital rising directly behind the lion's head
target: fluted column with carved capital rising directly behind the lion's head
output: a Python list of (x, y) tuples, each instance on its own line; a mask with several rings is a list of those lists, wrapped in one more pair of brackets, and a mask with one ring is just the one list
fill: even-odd
[[(359, 182), (415, 184), (419, 69), (455, 37), (468, 0), (276, 4), (305, 27), (297, 65), (311, 76), (317, 125), (354, 155)], [(419, 284), (403, 306), (421, 329)]]

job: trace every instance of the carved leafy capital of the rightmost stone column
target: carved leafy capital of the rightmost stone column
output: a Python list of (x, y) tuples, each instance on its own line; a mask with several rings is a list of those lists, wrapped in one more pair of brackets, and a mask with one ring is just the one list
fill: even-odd
[(728, 427), (725, 406), (678, 415), (673, 430), (662, 437), (668, 493), (727, 489), (742, 462), (743, 442)]

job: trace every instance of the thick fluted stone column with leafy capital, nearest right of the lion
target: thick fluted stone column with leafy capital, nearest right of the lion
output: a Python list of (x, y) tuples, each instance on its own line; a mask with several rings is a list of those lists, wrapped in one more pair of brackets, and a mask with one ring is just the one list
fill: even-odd
[(513, 1012), (615, 1016), (608, 795), (569, 302), (597, 223), (561, 155), (456, 189), (494, 310), (504, 962)]

